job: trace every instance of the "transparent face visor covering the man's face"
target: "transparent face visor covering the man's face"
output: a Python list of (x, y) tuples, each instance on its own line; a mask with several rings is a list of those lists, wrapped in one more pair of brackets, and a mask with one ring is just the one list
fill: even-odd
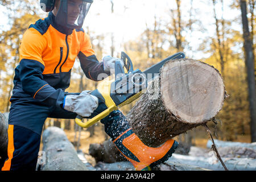
[(71, 0), (68, 1), (68, 27), (81, 28), (84, 23), (85, 16), (87, 15), (92, 1), (84, 0)]

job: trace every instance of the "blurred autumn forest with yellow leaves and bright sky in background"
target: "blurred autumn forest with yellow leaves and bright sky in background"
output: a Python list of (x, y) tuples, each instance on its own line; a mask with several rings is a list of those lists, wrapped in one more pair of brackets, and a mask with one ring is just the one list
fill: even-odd
[[(246, 4), (255, 57), (255, 1), (248, 0)], [(14, 69), (19, 64), (22, 35), (30, 24), (45, 18), (47, 13), (40, 9), (39, 0), (0, 0), (0, 15), (0, 112), (6, 113), (10, 109), (9, 98), (14, 86)], [(218, 124), (209, 125), (214, 137), (251, 142), (240, 1), (94, 0), (83, 28), (92, 40), (98, 60), (105, 55), (120, 57), (121, 51), (125, 51), (134, 68), (143, 71), (182, 51), (187, 58), (213, 65), (224, 78), (230, 96), (215, 117)], [(93, 90), (97, 84), (85, 77), (79, 60), (76, 60), (67, 91)], [(135, 101), (121, 110), (127, 113), (134, 104)], [(45, 127), (55, 125), (65, 130), (77, 129), (72, 119), (67, 120), (48, 118)], [(94, 129), (87, 129), (92, 136)], [(196, 143), (200, 131), (205, 137), (205, 129), (199, 127), (189, 131), (184, 139), (190, 138), (190, 142)]]

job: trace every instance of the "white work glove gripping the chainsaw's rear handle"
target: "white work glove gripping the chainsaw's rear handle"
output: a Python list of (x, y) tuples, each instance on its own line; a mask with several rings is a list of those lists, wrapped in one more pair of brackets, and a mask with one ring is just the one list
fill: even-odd
[(98, 98), (82, 91), (79, 95), (67, 95), (64, 98), (63, 108), (72, 111), (81, 117), (89, 117), (98, 107)]

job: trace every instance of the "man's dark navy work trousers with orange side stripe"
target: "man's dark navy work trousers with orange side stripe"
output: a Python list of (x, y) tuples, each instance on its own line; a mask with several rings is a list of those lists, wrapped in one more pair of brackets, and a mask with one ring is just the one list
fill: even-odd
[[(99, 100), (99, 106), (89, 118), (94, 117), (105, 109), (106, 106), (104, 102)], [(40, 138), (46, 118), (75, 119), (76, 115), (76, 113), (64, 109), (58, 109), (56, 106), (40, 104), (32, 97), (12, 97), (8, 129), (8, 158), (2, 170), (35, 170), (38, 160)], [(115, 137), (114, 135), (119, 135), (119, 132), (122, 131), (119, 130), (118, 133), (116, 133), (113, 126), (117, 125), (115, 125), (115, 123), (110, 124), (108, 121), (113, 122), (113, 119), (114, 121), (123, 121), (125, 117), (119, 110), (113, 111), (111, 115), (112, 117), (108, 116), (102, 119), (102, 123), (105, 124), (106, 133), (113, 138)]]

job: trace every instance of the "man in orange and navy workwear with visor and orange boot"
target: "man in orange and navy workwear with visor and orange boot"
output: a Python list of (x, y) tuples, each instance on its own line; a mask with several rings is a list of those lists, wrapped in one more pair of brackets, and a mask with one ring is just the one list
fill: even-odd
[[(98, 75), (110, 75), (116, 61), (104, 57), (101, 63), (92, 49), (82, 24), (92, 0), (41, 0), (45, 19), (31, 24), (20, 43), (20, 61), (15, 68), (13, 95), (8, 129), (8, 159), (2, 170), (35, 170), (40, 137), (47, 117), (75, 119), (77, 115), (92, 118), (101, 113), (104, 102), (97, 91), (67, 93), (71, 69), (76, 57), (86, 77), (94, 81)], [(95, 94), (96, 93), (96, 94)], [(96, 96), (95, 96), (96, 95)], [(101, 119), (106, 133), (135, 169), (150, 169), (168, 159), (177, 147), (167, 140), (160, 147), (148, 147), (131, 130), (119, 110)]]

